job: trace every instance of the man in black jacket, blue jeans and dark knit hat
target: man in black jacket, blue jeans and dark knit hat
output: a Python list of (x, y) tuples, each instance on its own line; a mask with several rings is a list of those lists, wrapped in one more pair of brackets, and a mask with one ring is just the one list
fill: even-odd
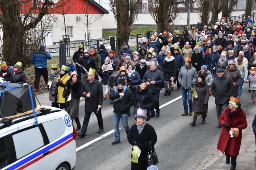
[(112, 142), (112, 145), (120, 143), (120, 132), (119, 132), (119, 122), (122, 119), (122, 124), (125, 129), (125, 133), (127, 136), (129, 135), (130, 128), (128, 125), (128, 112), (130, 107), (133, 105), (133, 96), (131, 90), (127, 89), (125, 94), (122, 93), (123, 88), (125, 87), (125, 79), (119, 79), (118, 87), (112, 90), (111, 94), (109, 95), (110, 100), (114, 100), (123, 96), (123, 100), (118, 100), (117, 102), (113, 103), (114, 113), (113, 113), (113, 121), (114, 121), (114, 131), (115, 131), (115, 140)]

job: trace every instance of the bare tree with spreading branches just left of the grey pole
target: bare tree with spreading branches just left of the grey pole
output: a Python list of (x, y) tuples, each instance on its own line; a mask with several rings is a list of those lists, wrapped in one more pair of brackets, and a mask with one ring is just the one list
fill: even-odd
[(173, 23), (179, 16), (177, 4), (188, 3), (189, 0), (148, 0), (150, 4), (150, 14), (157, 24), (157, 31), (169, 31), (170, 23)]

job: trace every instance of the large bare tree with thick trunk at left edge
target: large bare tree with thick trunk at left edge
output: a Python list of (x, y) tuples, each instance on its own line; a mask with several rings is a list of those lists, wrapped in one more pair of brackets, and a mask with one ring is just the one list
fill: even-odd
[[(0, 0), (2, 53), (8, 65), (14, 65), (17, 61), (23, 62), (24, 67), (31, 65), (31, 54), (41, 42), (36, 28), (54, 5), (50, 0), (43, 3), (38, 0)], [(35, 11), (38, 13), (35, 14)], [(42, 23), (48, 24), (49, 21), (44, 20)]]

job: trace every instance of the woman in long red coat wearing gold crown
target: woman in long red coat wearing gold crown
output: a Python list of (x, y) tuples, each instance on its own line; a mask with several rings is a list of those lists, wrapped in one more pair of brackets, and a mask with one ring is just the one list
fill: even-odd
[[(239, 98), (230, 97), (230, 102), (228, 107), (226, 107), (219, 118), (219, 123), (223, 126), (221, 135), (219, 136), (219, 141), (217, 149), (225, 152), (226, 164), (230, 162), (231, 156), (231, 168), (230, 170), (236, 169), (237, 155), (239, 154), (241, 140), (242, 140), (242, 129), (247, 128), (246, 116), (241, 109), (241, 104)], [(239, 136), (230, 137), (230, 128), (238, 128)]]

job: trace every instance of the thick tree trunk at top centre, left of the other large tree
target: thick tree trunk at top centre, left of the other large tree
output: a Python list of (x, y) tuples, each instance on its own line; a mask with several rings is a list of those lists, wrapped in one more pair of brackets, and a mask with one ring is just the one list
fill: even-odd
[[(122, 1), (120, 0), (116, 3), (117, 19), (116, 19), (116, 51), (118, 54), (120, 49), (123, 47), (123, 43), (129, 41), (130, 36), (130, 26), (128, 23), (129, 20), (129, 0)], [(118, 56), (118, 55), (116, 55)], [(119, 57), (118, 57), (119, 58)]]

